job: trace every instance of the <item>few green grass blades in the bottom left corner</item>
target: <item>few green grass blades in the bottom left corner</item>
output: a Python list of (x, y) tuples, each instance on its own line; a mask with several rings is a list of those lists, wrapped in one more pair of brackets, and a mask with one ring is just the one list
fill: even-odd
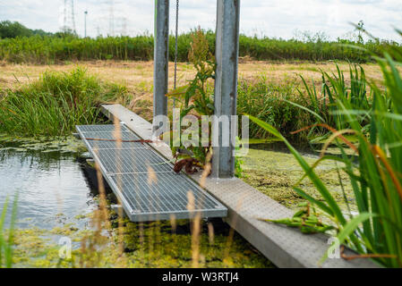
[(11, 268), (13, 266), (13, 229), (17, 216), (17, 200), (15, 196), (11, 213), (11, 220), (7, 234), (5, 233), (5, 221), (8, 211), (9, 199), (6, 198), (0, 216), (0, 268)]

